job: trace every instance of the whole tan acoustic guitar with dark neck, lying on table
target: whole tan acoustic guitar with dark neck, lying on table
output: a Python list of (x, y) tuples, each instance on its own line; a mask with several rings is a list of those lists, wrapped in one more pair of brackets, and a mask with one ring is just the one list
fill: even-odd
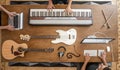
[(2, 56), (6, 60), (12, 60), (16, 57), (24, 57), (24, 54), (27, 51), (52, 53), (54, 51), (54, 48), (30, 49), (26, 43), (18, 44), (13, 40), (6, 40), (2, 44)]

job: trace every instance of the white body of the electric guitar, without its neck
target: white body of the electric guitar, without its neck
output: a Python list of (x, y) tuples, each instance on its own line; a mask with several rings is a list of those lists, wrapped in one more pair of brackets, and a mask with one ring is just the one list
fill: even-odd
[(51, 41), (54, 44), (62, 42), (67, 45), (71, 45), (76, 41), (77, 32), (75, 29), (70, 29), (68, 31), (56, 30), (56, 32), (59, 33), (60, 37)]

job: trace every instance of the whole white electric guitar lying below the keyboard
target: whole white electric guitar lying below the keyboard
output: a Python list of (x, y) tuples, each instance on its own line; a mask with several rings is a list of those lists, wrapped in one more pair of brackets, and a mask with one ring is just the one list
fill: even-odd
[(68, 31), (64, 30), (56, 30), (59, 35), (41, 35), (41, 36), (30, 36), (30, 35), (20, 35), (21, 40), (29, 41), (31, 38), (49, 38), (49, 39), (55, 39), (51, 42), (53, 44), (57, 43), (65, 43), (67, 45), (72, 45), (76, 41), (77, 37), (77, 31), (75, 29), (69, 29)]

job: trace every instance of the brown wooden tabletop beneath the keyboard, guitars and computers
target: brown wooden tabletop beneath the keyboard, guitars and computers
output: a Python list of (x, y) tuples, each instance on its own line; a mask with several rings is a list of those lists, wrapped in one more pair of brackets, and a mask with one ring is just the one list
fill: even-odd
[[(11, 61), (27, 61), (27, 62), (83, 62), (83, 51), (84, 50), (106, 50), (107, 46), (113, 47), (114, 58), (112, 57), (112, 48), (111, 52), (107, 53), (107, 61), (116, 61), (117, 60), (117, 46), (118, 46), (118, 33), (117, 33), (117, 13), (115, 12), (112, 16), (109, 24), (112, 26), (110, 29), (106, 27), (101, 29), (101, 26), (104, 24), (105, 19), (102, 15), (101, 10), (105, 11), (105, 15), (108, 18), (112, 11), (116, 11), (116, 6), (103, 5), (73, 5), (72, 8), (91, 8), (93, 14), (93, 25), (91, 26), (32, 26), (28, 24), (28, 16), (30, 8), (46, 8), (46, 5), (11, 5), (4, 6), (9, 11), (16, 11), (17, 13), (24, 13), (24, 29), (19, 31), (7, 31), (2, 30), (2, 43), (5, 40), (14, 40), (17, 43), (26, 43), (29, 48), (54, 48), (52, 53), (44, 52), (27, 52), (24, 57), (17, 57)], [(65, 8), (65, 5), (57, 5), (56, 8)], [(7, 24), (7, 15), (2, 13), (2, 25)], [(22, 41), (19, 38), (20, 34), (29, 34), (29, 35), (57, 35), (56, 30), (69, 30), (74, 28), (77, 30), (77, 40), (73, 45), (66, 45), (64, 43), (52, 44), (52, 39), (31, 39), (30, 41)], [(95, 32), (102, 32), (107, 35), (107, 37), (115, 38), (110, 44), (81, 44), (80, 42), (89, 35), (94, 34)], [(96, 34), (97, 36), (104, 37), (102, 34)], [(58, 57), (58, 48), (64, 46), (66, 48), (65, 55), (59, 59)], [(67, 53), (73, 53), (79, 55), (80, 57), (75, 57), (72, 55), (71, 59), (67, 58)], [(7, 61), (2, 59), (2, 61)], [(90, 62), (99, 62), (98, 57), (93, 57)]]

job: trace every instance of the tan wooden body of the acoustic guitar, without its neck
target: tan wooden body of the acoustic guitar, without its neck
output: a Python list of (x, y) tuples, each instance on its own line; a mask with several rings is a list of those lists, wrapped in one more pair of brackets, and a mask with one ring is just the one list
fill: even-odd
[(20, 48), (27, 49), (28, 46), (25, 43), (18, 44), (13, 40), (6, 40), (2, 44), (2, 56), (7, 60), (12, 60), (19, 56), (24, 57), (25, 51), (21, 51)]

